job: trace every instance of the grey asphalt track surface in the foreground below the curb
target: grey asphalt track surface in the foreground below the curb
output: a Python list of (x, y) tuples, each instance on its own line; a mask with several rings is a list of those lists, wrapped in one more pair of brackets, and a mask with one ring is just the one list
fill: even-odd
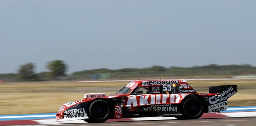
[[(256, 126), (256, 117), (54, 124), (54, 126)], [(31, 125), (30, 125), (31, 126)], [(34, 125), (37, 126), (37, 125)], [(40, 125), (38, 125), (40, 126)], [(44, 125), (52, 126), (52, 125)]]

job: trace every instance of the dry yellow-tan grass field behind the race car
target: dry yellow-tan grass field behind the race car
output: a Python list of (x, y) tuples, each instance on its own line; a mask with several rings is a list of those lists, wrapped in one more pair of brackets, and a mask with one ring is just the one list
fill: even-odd
[[(82, 100), (84, 93), (114, 94), (127, 83), (0, 83), (0, 115), (57, 112), (64, 103)], [(208, 93), (209, 86), (237, 84), (238, 93), (229, 99), (229, 106), (256, 104), (256, 80), (191, 80), (188, 83), (200, 93)]]

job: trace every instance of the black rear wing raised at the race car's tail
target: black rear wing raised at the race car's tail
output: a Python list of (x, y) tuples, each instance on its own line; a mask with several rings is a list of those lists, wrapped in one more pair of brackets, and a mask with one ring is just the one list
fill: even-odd
[[(209, 93), (221, 93), (224, 95), (234, 95), (237, 93), (237, 85), (221, 85), (209, 87)], [(230, 96), (228, 96), (229, 98)]]

